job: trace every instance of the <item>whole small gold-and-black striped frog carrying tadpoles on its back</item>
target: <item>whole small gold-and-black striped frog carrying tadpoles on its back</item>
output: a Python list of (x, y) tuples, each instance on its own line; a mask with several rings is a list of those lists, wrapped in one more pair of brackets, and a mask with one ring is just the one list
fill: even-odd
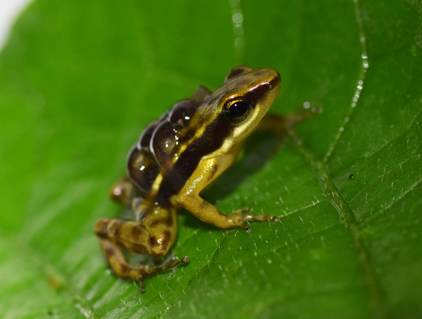
[(280, 132), (300, 120), (267, 114), (280, 87), (273, 68), (235, 67), (214, 92), (198, 87), (142, 131), (127, 155), (126, 175), (110, 191), (111, 199), (132, 209), (135, 219), (101, 218), (94, 229), (116, 276), (138, 281), (145, 291), (146, 276), (189, 261), (173, 256), (161, 265), (135, 266), (122, 253), (165, 256), (176, 240), (179, 208), (224, 230), (250, 232), (249, 222), (279, 220), (250, 214), (249, 208), (224, 214), (200, 195), (235, 162), (254, 131)]

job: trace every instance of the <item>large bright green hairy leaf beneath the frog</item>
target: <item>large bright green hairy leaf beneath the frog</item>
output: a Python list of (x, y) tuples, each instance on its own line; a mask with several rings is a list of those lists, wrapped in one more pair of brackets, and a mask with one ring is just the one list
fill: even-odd
[[(422, 312), (422, 2), (32, 3), (0, 55), (2, 318), (415, 318)], [(92, 232), (141, 130), (230, 68), (281, 73), (279, 114), (205, 197), (281, 216), (223, 233), (180, 212), (145, 281)], [(276, 151), (275, 151), (276, 150)], [(128, 215), (130, 216), (130, 215)]]

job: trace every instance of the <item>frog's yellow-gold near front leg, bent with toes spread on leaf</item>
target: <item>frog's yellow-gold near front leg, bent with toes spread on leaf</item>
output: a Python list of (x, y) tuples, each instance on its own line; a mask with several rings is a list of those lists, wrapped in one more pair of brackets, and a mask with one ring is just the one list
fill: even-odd
[[(219, 165), (216, 164), (217, 162)], [(215, 159), (200, 162), (192, 176), (190, 176), (185, 186), (179, 192), (177, 197), (178, 203), (203, 222), (220, 228), (248, 228), (245, 225), (247, 221), (278, 220), (276, 216), (243, 214), (249, 211), (247, 209), (240, 209), (233, 214), (226, 215), (199, 196), (199, 193), (218, 177), (226, 167), (230, 166), (231, 162), (231, 159), (227, 159), (226, 162), (224, 160), (216, 161)]]

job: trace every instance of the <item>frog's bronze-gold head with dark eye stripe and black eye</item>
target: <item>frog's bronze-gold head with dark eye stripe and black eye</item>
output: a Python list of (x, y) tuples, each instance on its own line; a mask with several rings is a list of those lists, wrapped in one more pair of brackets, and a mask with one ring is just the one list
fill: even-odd
[(242, 143), (256, 128), (280, 92), (280, 74), (271, 68), (237, 67), (208, 98), (208, 115), (227, 132), (227, 147)]

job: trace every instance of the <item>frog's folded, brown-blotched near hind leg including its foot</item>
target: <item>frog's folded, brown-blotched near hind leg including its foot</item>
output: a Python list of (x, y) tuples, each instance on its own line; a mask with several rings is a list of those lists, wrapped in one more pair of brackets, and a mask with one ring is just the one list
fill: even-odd
[[(138, 254), (164, 256), (176, 238), (176, 209), (160, 206), (146, 207), (143, 201), (139, 209), (145, 210), (141, 220), (102, 218), (95, 225), (95, 233), (100, 238), (101, 248), (116, 275), (141, 283), (142, 278), (187, 262), (188, 257), (180, 260), (173, 257), (168, 262), (157, 266), (134, 266), (124, 259), (120, 247)], [(151, 210), (152, 209), (152, 210)]]

